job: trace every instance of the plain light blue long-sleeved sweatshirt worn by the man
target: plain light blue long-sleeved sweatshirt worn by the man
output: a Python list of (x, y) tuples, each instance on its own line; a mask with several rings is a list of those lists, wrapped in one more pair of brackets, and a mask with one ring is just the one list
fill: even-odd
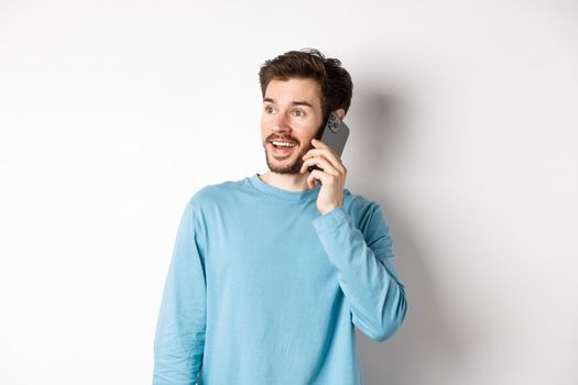
[(353, 326), (383, 341), (405, 289), (380, 206), (345, 189), (321, 216), (320, 184), (287, 191), (258, 174), (186, 206), (166, 276), (154, 385), (362, 384)]

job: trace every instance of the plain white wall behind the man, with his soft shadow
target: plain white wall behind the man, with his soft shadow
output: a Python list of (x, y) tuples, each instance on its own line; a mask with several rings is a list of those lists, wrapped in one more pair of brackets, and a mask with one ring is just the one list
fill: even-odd
[(258, 70), (350, 70), (408, 315), (369, 385), (578, 383), (578, 4), (0, 0), (0, 384), (148, 384), (176, 227), (264, 172)]

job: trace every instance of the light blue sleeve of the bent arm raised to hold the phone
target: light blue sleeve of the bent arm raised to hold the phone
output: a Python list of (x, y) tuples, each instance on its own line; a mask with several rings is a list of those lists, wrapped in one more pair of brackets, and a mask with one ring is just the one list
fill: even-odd
[(369, 338), (383, 341), (403, 322), (405, 287), (393, 263), (392, 240), (381, 207), (371, 202), (357, 229), (343, 207), (316, 218), (313, 226), (337, 270), (352, 322)]

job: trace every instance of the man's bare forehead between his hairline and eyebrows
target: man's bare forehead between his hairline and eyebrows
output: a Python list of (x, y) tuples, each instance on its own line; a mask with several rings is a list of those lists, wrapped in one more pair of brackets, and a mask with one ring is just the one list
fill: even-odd
[(273, 79), (266, 86), (265, 98), (273, 99), (277, 105), (307, 101), (320, 108), (321, 86), (316, 80), (306, 78)]

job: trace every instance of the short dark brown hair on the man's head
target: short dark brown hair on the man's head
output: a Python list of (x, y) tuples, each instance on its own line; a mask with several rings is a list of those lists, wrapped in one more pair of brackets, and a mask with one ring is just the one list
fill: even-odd
[(319, 51), (305, 48), (290, 51), (274, 59), (266, 61), (259, 70), (261, 94), (273, 79), (310, 78), (321, 86), (324, 117), (342, 108), (346, 112), (351, 105), (353, 82), (349, 73), (336, 58), (326, 58)]

